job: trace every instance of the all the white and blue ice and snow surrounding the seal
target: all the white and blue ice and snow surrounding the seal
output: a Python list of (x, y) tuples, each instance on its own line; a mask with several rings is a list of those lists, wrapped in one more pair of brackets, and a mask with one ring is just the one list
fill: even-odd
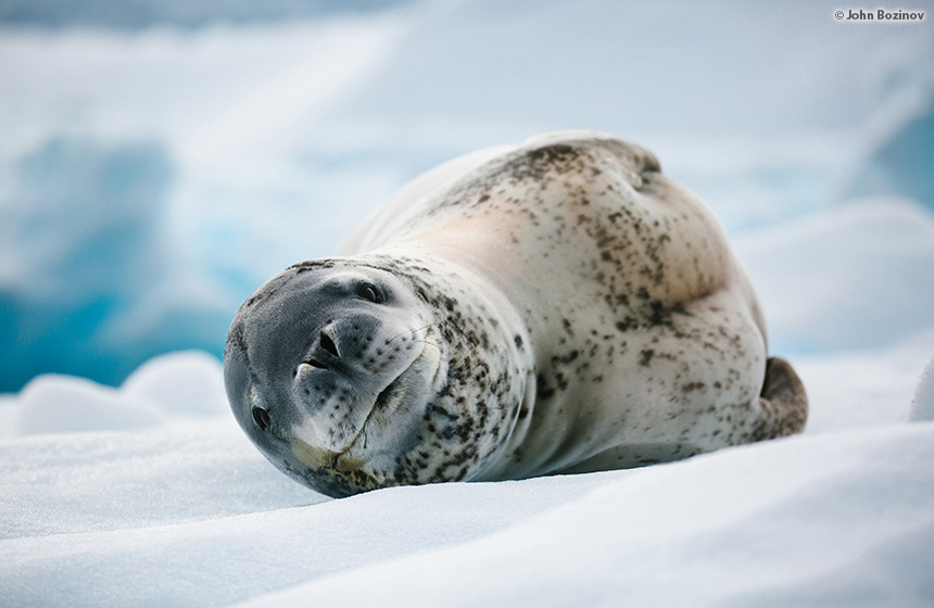
[[(4, 606), (934, 603), (930, 22), (79, 7), (0, 8)], [(419, 172), (565, 128), (647, 145), (715, 210), (806, 433), (342, 501), (267, 465), (220, 382), (239, 304)]]

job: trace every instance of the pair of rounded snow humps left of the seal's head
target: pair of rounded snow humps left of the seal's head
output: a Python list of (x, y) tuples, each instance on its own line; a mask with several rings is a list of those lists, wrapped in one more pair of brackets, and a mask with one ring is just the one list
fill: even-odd
[(5, 407), (14, 413), (12, 434), (147, 429), (228, 411), (220, 363), (198, 351), (154, 357), (119, 389), (38, 376)]

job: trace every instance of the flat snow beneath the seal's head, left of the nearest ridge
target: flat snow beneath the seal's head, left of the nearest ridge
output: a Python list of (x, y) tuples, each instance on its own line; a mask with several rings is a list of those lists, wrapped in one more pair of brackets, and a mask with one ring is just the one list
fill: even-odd
[(0, 444), (0, 458), (14, 454), (0, 484), (10, 607), (224, 606), (495, 532), (608, 479), (332, 501), (276, 471), (232, 426)]

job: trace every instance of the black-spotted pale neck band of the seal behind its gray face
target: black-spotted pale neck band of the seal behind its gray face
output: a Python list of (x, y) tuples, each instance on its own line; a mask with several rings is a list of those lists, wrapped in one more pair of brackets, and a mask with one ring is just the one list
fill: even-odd
[(534, 353), (520, 313), (496, 283), (443, 255), (406, 246), (346, 259), (392, 273), (433, 312), (449, 378), (432, 407), (474, 433), (477, 458), (462, 479), (502, 479), (534, 402)]

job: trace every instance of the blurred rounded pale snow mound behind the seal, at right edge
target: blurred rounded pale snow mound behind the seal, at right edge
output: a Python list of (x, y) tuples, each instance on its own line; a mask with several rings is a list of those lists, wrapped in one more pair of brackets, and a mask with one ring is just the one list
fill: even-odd
[(875, 347), (934, 327), (934, 215), (854, 202), (734, 241), (774, 353)]

